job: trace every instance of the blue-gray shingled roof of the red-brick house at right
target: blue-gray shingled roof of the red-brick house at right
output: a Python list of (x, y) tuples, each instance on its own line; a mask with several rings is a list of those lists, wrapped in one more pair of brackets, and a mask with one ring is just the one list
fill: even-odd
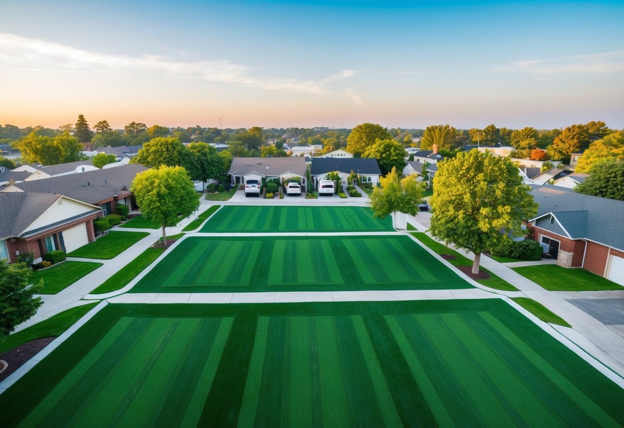
[(552, 212), (573, 238), (587, 238), (624, 250), (623, 201), (552, 186), (535, 188), (531, 194), (539, 204), (536, 217)]

